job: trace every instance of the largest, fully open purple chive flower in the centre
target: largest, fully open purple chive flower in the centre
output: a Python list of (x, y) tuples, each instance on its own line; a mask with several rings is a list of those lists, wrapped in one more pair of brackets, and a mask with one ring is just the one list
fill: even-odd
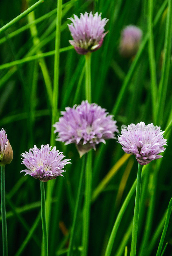
[(56, 140), (65, 142), (65, 145), (75, 143), (80, 157), (92, 148), (96, 149), (98, 143), (105, 144), (105, 140), (116, 139), (116, 121), (95, 103), (82, 101), (81, 105), (68, 107), (61, 114), (59, 122), (54, 124), (54, 133), (59, 133)]

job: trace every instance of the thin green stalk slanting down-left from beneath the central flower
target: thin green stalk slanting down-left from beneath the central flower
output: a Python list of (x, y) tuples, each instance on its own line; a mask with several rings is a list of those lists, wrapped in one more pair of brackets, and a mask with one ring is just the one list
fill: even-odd
[(69, 243), (69, 249), (67, 256), (72, 256), (73, 255), (73, 246), (74, 246), (74, 236), (75, 236), (75, 229), (76, 229), (76, 223), (77, 223), (77, 218), (78, 218), (78, 213), (80, 209), (80, 204), (81, 204), (81, 199), (82, 199), (82, 186), (83, 186), (83, 178), (84, 178), (84, 170), (85, 170), (85, 160), (86, 156), (82, 156), (82, 167), (81, 167), (81, 174), (80, 174), (80, 180), (79, 180), (79, 185), (78, 185), (78, 192), (77, 192), (77, 197), (76, 197), (76, 204), (75, 204), (75, 211), (74, 211), (74, 218), (73, 218), (73, 223), (72, 223), (72, 229), (71, 229), (71, 235), (70, 235), (70, 243)]

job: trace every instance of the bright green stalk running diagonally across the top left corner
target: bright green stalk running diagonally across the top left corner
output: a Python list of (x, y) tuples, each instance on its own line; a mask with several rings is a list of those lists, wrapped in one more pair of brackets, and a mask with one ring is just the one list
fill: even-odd
[(27, 14), (29, 14), (30, 12), (32, 12), (33, 10), (35, 10), (35, 8), (37, 8), (40, 4), (44, 3), (46, 0), (39, 0), (38, 2), (36, 2), (35, 4), (33, 4), (31, 7), (29, 7), (27, 10), (25, 10), (24, 12), (22, 12), (21, 14), (19, 14), (16, 18), (14, 18), (13, 20), (11, 20), (10, 22), (8, 22), (6, 25), (4, 25), (2, 28), (0, 28), (0, 34), (2, 34), (5, 30), (7, 30), (8, 28), (10, 28), (12, 25), (14, 25), (17, 21), (21, 20), (22, 18), (24, 18)]

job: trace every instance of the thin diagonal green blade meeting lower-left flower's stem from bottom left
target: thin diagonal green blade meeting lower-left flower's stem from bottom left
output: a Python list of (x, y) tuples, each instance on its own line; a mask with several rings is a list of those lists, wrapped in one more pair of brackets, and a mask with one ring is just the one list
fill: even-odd
[(35, 229), (37, 228), (37, 226), (39, 224), (40, 217), (41, 217), (41, 214), (39, 212), (38, 216), (36, 217), (35, 221), (33, 222), (32, 228), (29, 230), (25, 240), (20, 245), (20, 248), (18, 249), (18, 251), (16, 252), (16, 254), (14, 256), (19, 256), (24, 251), (26, 245), (29, 243), (31, 237), (33, 236), (33, 233), (34, 233)]

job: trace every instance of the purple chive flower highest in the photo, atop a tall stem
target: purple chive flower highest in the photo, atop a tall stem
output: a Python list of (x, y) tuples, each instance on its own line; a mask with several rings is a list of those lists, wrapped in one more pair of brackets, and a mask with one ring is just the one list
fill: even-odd
[(69, 40), (79, 54), (87, 54), (88, 52), (94, 52), (98, 50), (104, 40), (104, 26), (108, 22), (107, 18), (102, 20), (101, 13), (98, 15), (96, 12), (94, 15), (92, 12), (87, 12), (84, 15), (81, 13), (80, 19), (74, 14), (73, 18), (68, 18), (72, 21), (69, 25), (71, 36), (74, 40)]

